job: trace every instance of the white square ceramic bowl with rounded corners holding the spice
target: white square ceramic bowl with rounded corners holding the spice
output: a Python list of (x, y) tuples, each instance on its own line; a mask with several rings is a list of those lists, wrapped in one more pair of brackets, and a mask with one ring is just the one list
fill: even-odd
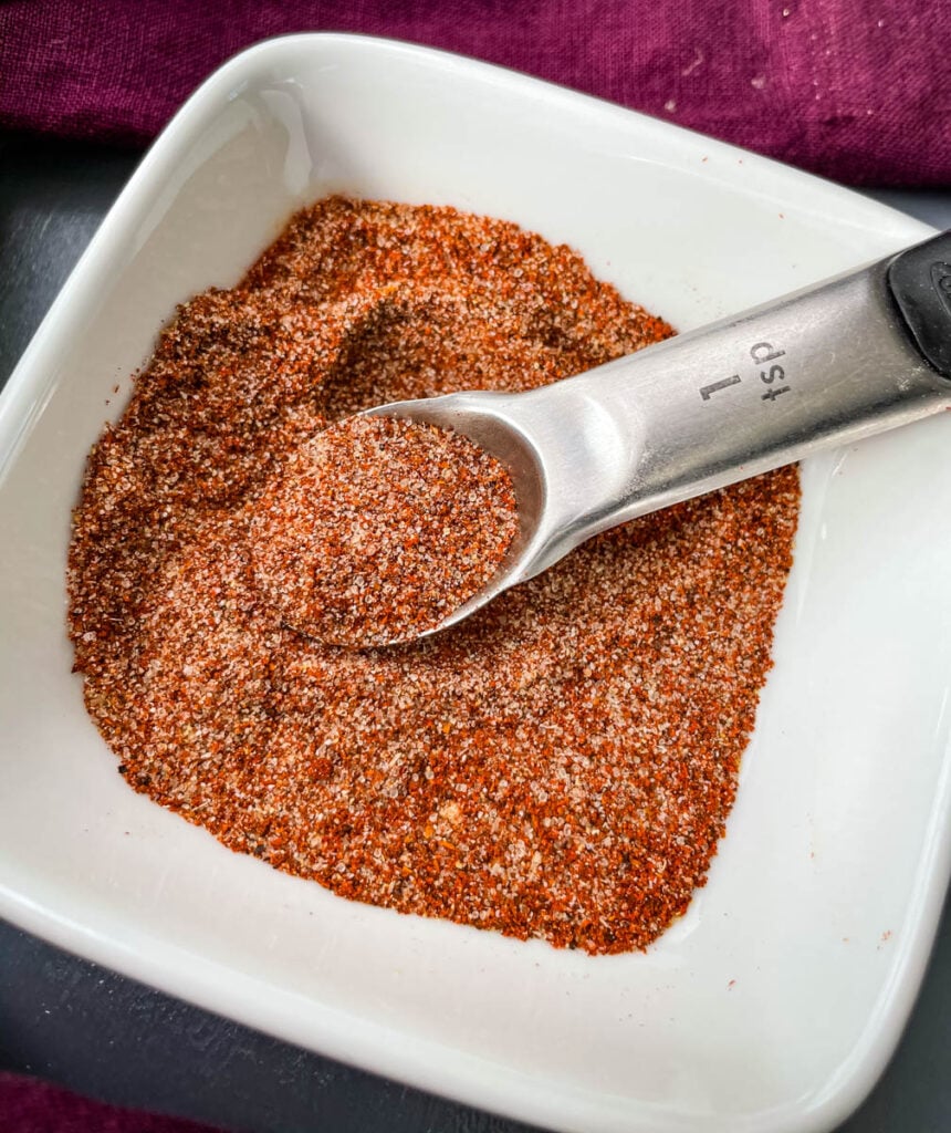
[(542, 1125), (832, 1127), (898, 1040), (948, 880), (951, 418), (804, 468), (729, 834), (645, 955), (331, 896), (134, 794), (86, 718), (63, 625), (86, 453), (174, 305), (233, 283), (331, 191), (511, 218), (680, 329), (929, 231), (432, 51), (303, 35), (229, 62), (148, 153), (0, 402), (0, 912), (265, 1031)]

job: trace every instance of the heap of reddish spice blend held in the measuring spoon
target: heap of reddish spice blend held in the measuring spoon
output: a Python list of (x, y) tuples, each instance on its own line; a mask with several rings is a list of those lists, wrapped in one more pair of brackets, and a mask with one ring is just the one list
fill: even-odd
[(350, 417), (302, 445), (250, 522), (262, 594), (344, 646), (434, 629), (495, 574), (519, 527), (507, 470), (449, 429)]

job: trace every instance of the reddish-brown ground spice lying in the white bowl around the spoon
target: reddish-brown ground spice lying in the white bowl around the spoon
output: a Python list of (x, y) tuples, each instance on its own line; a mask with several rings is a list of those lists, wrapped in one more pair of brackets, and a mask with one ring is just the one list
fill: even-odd
[(725, 832), (796, 469), (384, 649), (286, 629), (248, 534), (331, 421), (531, 389), (669, 333), (513, 224), (341, 198), (182, 306), (89, 457), (70, 548), (76, 667), (129, 784), (345, 897), (591, 953), (653, 940)]

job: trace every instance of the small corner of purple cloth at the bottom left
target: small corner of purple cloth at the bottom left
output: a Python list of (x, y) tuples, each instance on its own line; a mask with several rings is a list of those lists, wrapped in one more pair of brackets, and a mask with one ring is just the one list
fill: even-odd
[(31, 1077), (0, 1074), (2, 1133), (214, 1133), (179, 1117), (106, 1106)]

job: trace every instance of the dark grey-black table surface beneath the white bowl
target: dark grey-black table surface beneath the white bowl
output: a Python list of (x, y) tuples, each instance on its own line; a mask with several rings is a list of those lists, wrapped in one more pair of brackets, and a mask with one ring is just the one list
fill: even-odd
[[(138, 157), (93, 145), (0, 135), (0, 383)], [(951, 191), (874, 195), (935, 225), (951, 227)], [(212, 1015), (3, 921), (0, 1070), (242, 1133), (528, 1130)], [(0, 1127), (6, 1128), (2, 1114)], [(839, 1133), (940, 1130), (951, 1130), (948, 910), (894, 1058)]]

